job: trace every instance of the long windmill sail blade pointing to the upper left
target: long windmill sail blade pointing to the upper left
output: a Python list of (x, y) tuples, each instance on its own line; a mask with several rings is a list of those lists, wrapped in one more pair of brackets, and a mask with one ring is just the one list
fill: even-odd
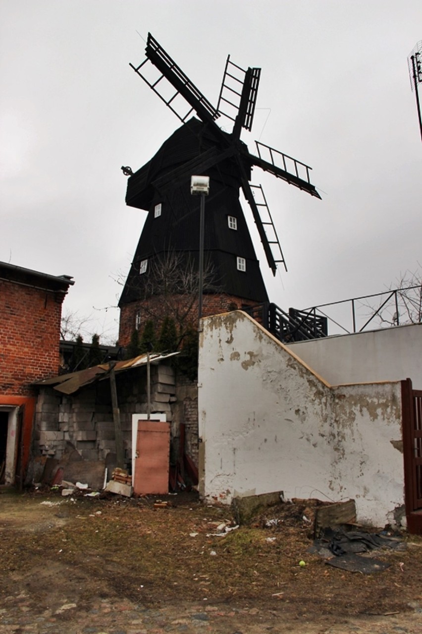
[[(157, 42), (155, 37), (148, 33), (148, 40), (146, 43), (146, 60), (144, 60), (139, 66), (129, 64), (131, 68), (141, 77), (144, 82), (150, 86), (151, 89), (160, 97), (162, 101), (176, 114), (176, 116), (185, 123), (188, 117), (193, 111), (195, 111), (203, 122), (214, 124), (214, 120), (220, 115), (216, 108), (205, 98), (201, 91), (195, 86), (189, 79), (188, 75), (184, 74), (182, 69), (176, 64), (162, 46)], [(161, 73), (157, 79), (150, 81), (146, 75), (146, 63), (150, 61)], [(165, 88), (163, 84), (165, 81), (169, 82), (176, 93), (165, 96)], [(176, 108), (176, 102), (178, 96), (181, 95), (190, 106), (189, 110), (181, 115), (178, 108)], [(214, 124), (215, 126), (215, 124)], [(219, 130), (218, 126), (215, 126)]]

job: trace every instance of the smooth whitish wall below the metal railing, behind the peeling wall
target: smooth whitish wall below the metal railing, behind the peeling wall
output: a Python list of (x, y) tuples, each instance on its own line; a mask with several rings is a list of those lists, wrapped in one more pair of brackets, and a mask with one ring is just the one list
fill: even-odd
[(411, 378), (422, 389), (422, 323), (288, 344), (332, 385)]

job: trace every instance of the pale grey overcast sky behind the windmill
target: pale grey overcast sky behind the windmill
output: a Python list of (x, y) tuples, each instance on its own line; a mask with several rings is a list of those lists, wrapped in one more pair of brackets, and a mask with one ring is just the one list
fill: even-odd
[(253, 171), (288, 266), (272, 277), (251, 219), (271, 301), (380, 292), (422, 263), (407, 70), (421, 0), (1, 0), (1, 261), (74, 276), (65, 307), (117, 333), (118, 311), (101, 309), (117, 304), (113, 278), (129, 271), (146, 217), (125, 205), (120, 166), (135, 171), (179, 127), (129, 67), (148, 31), (214, 105), (228, 53), (262, 67), (242, 139), (313, 168), (323, 200)]

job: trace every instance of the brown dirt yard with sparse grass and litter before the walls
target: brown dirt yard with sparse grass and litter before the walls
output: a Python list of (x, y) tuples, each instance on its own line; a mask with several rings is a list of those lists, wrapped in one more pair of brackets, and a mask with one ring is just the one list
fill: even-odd
[(390, 567), (363, 576), (307, 552), (300, 505), (278, 505), (219, 537), (219, 524), (233, 524), (229, 508), (204, 506), (192, 494), (169, 496), (163, 507), (155, 501), (2, 493), (0, 604), (22, 602), (23, 592), (34, 618), (50, 611), (61, 619), (66, 604), (89, 612), (93, 602), (127, 600), (180, 611), (201, 602), (222, 614), (253, 610), (326, 626), (422, 609), (420, 538), (406, 537), (404, 552), (378, 550)]

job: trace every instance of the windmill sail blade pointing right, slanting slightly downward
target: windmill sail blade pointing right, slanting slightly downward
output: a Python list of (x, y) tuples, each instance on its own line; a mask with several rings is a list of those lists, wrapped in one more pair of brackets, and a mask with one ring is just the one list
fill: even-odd
[[(264, 143), (255, 141), (255, 145), (259, 156), (249, 154), (252, 165), (257, 165), (265, 172), (270, 172), (277, 178), (282, 178), (287, 183), (307, 191), (311, 196), (321, 200), (315, 185), (310, 182), (309, 172), (312, 167), (300, 160), (293, 159), (288, 154), (275, 150), (269, 145), (264, 145)], [(263, 155), (265, 155), (265, 159), (262, 158)]]

